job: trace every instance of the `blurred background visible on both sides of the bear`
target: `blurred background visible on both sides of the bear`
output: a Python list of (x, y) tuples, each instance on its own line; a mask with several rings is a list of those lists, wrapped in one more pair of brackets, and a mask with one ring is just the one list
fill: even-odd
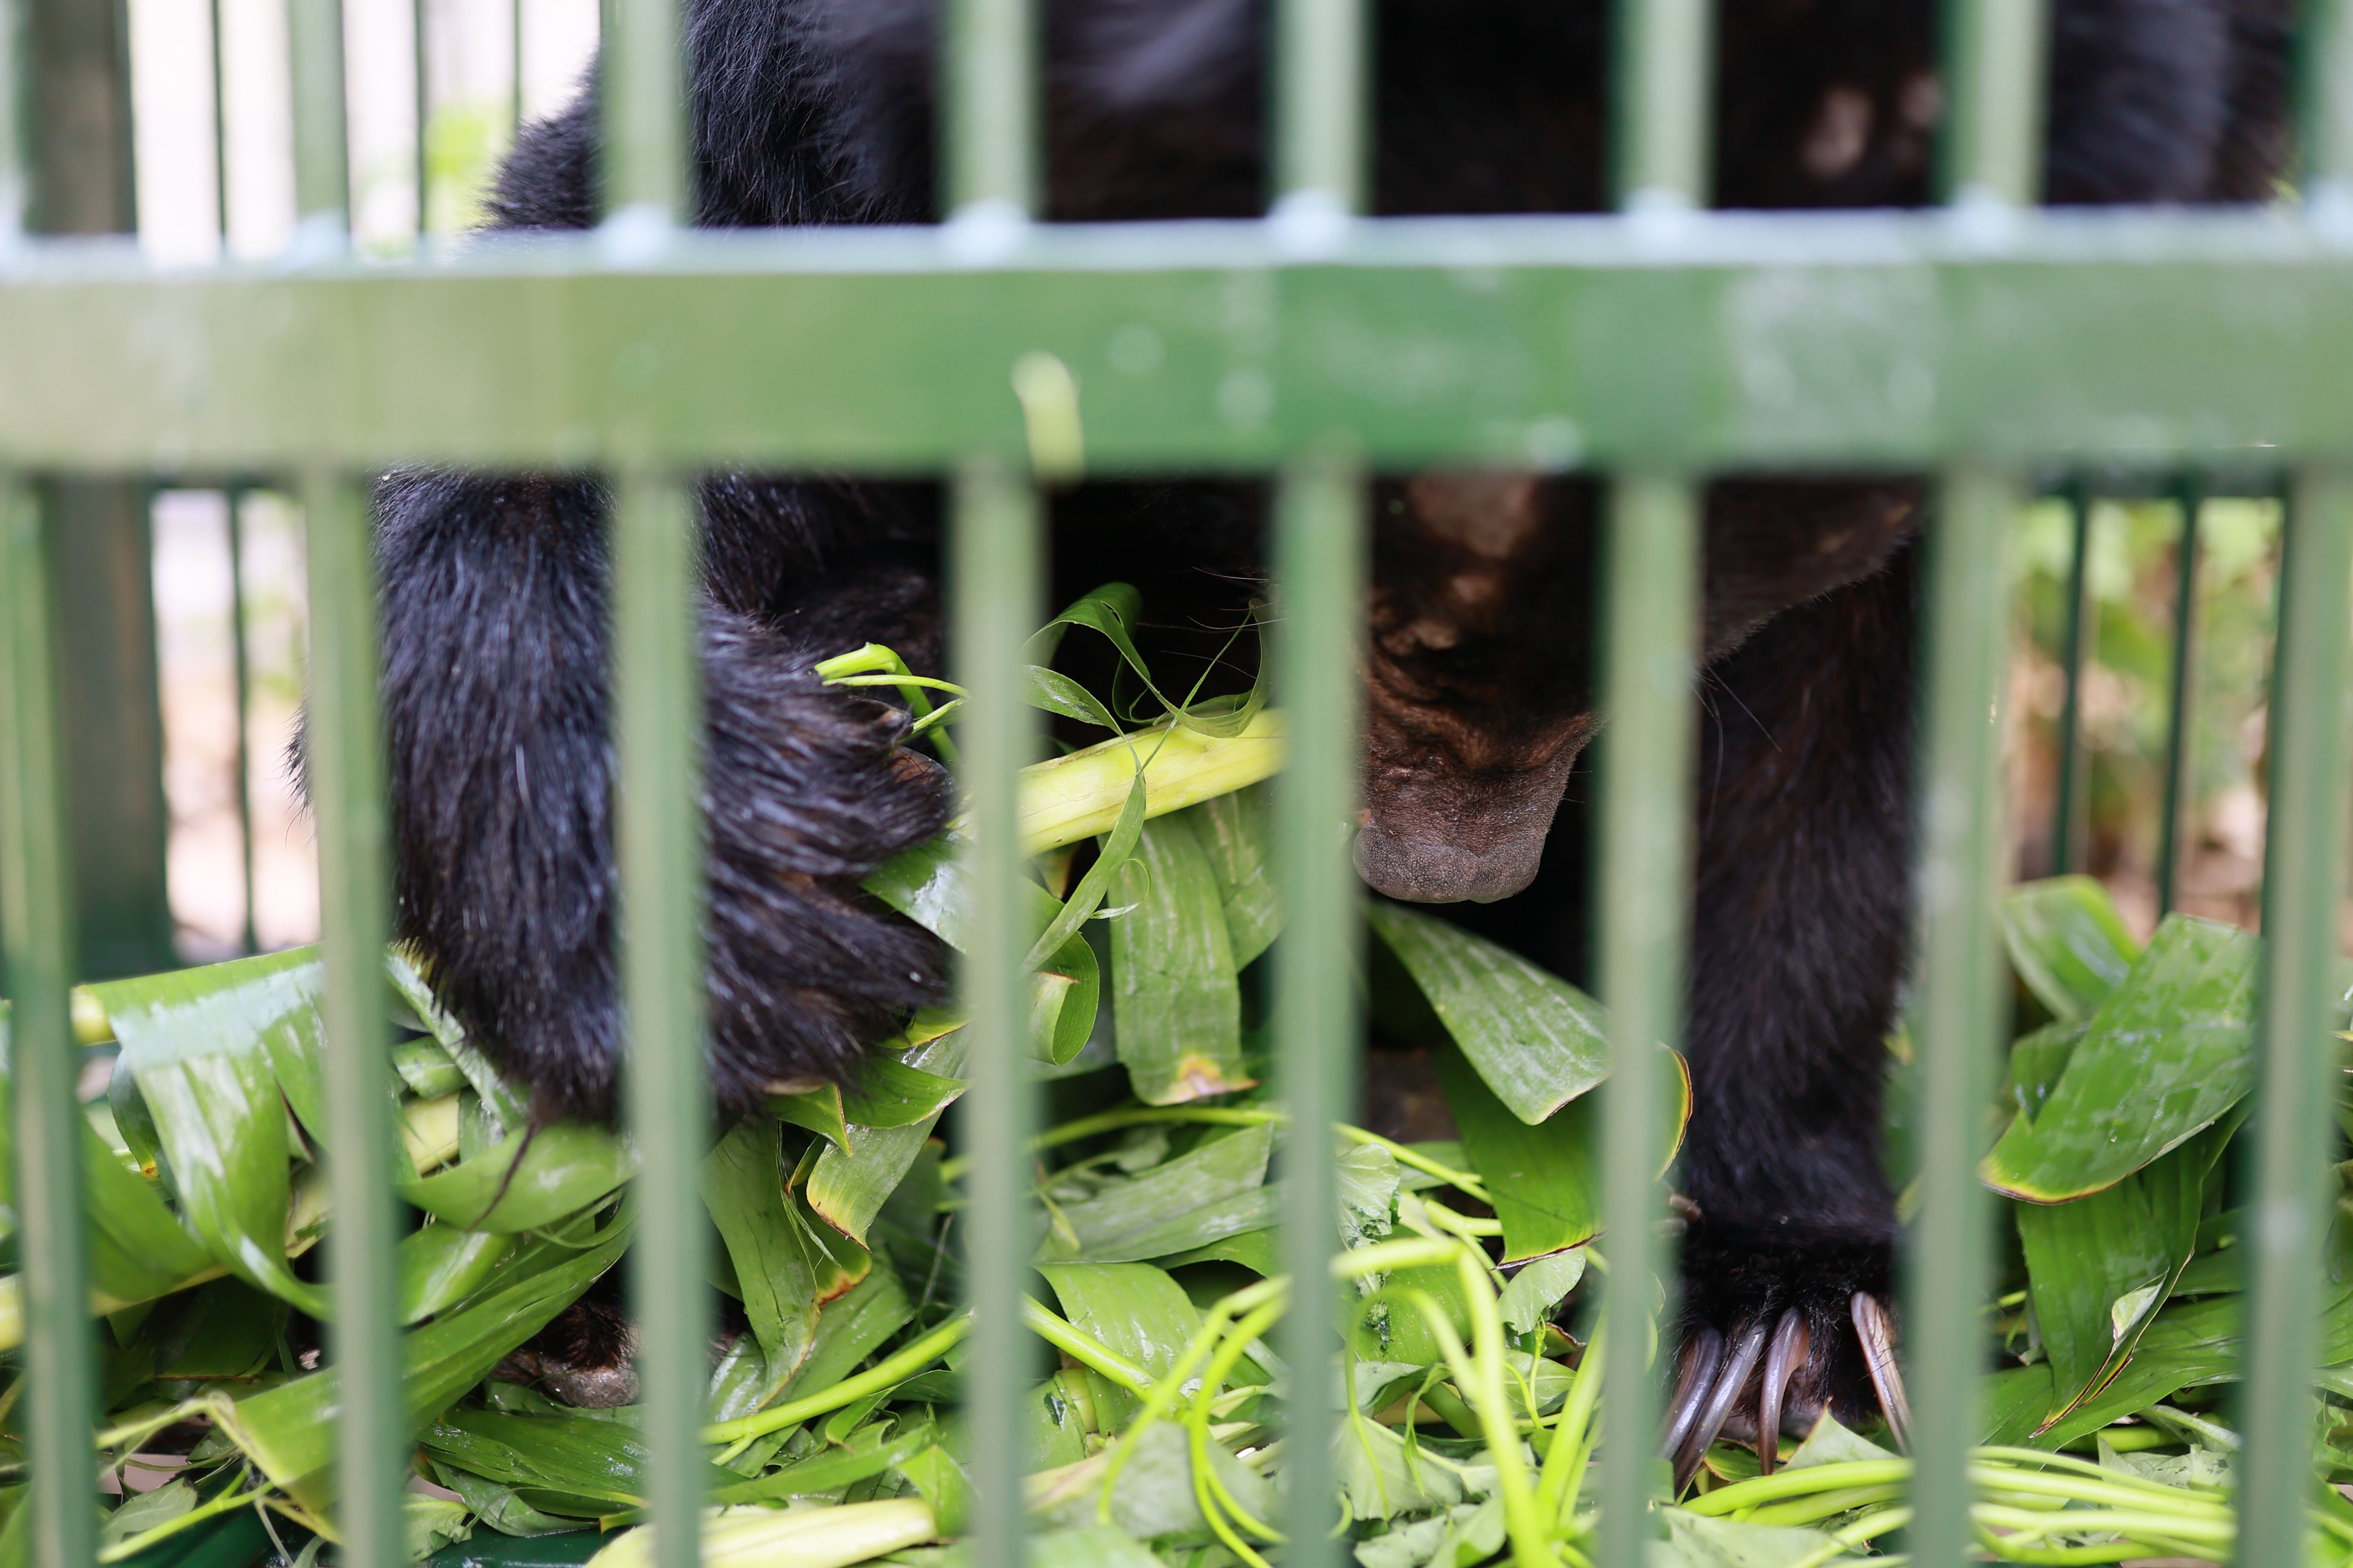
[[(515, 125), (572, 96), (598, 35), (595, 0), (346, 0), (344, 19), (353, 216), (381, 259), (480, 219)], [(278, 254), (294, 219), (282, 0), (35, 0), (33, 21), (42, 146), (64, 148), (40, 172), (42, 228), (136, 233), (160, 266)], [(287, 771), (299, 517), (261, 487), (61, 489), (78, 512), (61, 574), (87, 969), (313, 940), (311, 825)], [(2017, 875), (2087, 870), (2141, 931), (2165, 907), (2257, 922), (2278, 543), (2278, 501), (2249, 496), (2059, 494), (2019, 517)]]

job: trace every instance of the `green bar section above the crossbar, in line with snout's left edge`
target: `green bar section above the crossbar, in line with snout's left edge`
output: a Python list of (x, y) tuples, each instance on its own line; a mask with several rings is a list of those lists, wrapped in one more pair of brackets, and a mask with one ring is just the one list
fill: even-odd
[(1365, 0), (1275, 9), (1275, 197), (1329, 214), (1365, 207)]

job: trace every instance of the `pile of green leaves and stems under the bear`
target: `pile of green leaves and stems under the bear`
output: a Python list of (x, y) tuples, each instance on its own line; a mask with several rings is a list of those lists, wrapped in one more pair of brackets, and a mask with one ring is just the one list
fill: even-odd
[[(1066, 616), (1132, 658), (1129, 618), (1120, 595)], [(878, 649), (831, 672), (927, 684)], [(1049, 1095), (1026, 1307), (1040, 1563), (1264, 1568), (1280, 1556), (1282, 1413), (1308, 1387), (1344, 1394), (1334, 1507), (1362, 1568), (1588, 1568), (1609, 1333), (1581, 1291), (1605, 1267), (1602, 1009), (1442, 919), (1372, 903), (1374, 1013), (1431, 1046), (1457, 1135), (1332, 1128), (1301, 1145), (1264, 1088), (1261, 959), (1282, 924), (1266, 790), (1226, 788), (1266, 769), (1217, 771), (1271, 715), (1254, 696), (1148, 693), (1155, 729), (1031, 780), (1099, 835), (1042, 853), (1033, 893)], [(1049, 670), (1033, 696), (1066, 717), (1132, 717)], [(1176, 755), (1200, 764), (1198, 804), (1146, 820), (1134, 764)], [(1073, 806), (1071, 778), (1096, 766), (1127, 783)], [(958, 865), (944, 839), (871, 886), (955, 943)], [(2174, 919), (2139, 950), (2087, 882), (2021, 889), (2005, 922), (2033, 1027), (1986, 1126), (2019, 1246), (1988, 1302), (1988, 1354), (2009, 1371), (1991, 1380), (1979, 1455), (1984, 1547), (2038, 1563), (2221, 1561), (2238, 1446), (2221, 1415), (2238, 1321), (2226, 1143), (2249, 1081), (2252, 943)], [(315, 954), (287, 952), (78, 994), (85, 1039), (118, 1048), (85, 1135), (108, 1561), (308, 1566), (332, 1537), (334, 1371), (318, 1368), (322, 1300), (304, 1262), (332, 1225), (315, 1161), (320, 985)], [(400, 1246), (412, 1554), (642, 1563), (631, 1406), (562, 1403), (553, 1394), (579, 1385), (532, 1349), (621, 1262), (633, 1152), (588, 1126), (525, 1140), (513, 1088), (400, 954), (386, 1006), (402, 1025), (391, 1175), (419, 1215)], [(955, 1552), (962, 1159), (941, 1114), (965, 1088), (962, 1056), (955, 1013), (918, 1016), (859, 1086), (776, 1095), (704, 1161), (725, 1295), (706, 1432), (715, 1566), (920, 1568)], [(1901, 1081), (1899, 1065), (1897, 1159)], [(1341, 1171), (1329, 1225), (1353, 1309), (1329, 1371), (1268, 1347), (1287, 1305), (1282, 1159)], [(2341, 1237), (2329, 1269), (2329, 1359), (2348, 1366), (2322, 1375), (2315, 1460), (2339, 1481), (2353, 1479)], [(0, 1481), (19, 1481), (0, 1490), (0, 1563), (26, 1556), (16, 1291), (0, 1279)], [(1762, 1479), (1753, 1453), (1718, 1443), (1689, 1495), (1661, 1497), (1661, 1563), (1899, 1561), (1875, 1554), (1901, 1554), (1908, 1462), (1871, 1436), (1885, 1434), (1826, 1420)], [(2315, 1481), (2313, 1512), (2327, 1556), (2346, 1559), (2353, 1507)]]

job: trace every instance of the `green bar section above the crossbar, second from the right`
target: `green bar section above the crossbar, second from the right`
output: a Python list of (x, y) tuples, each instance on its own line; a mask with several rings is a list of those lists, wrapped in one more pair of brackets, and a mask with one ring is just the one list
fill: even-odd
[(1948, 0), (1944, 183), (1953, 202), (2026, 207), (2042, 195), (2047, 0)]

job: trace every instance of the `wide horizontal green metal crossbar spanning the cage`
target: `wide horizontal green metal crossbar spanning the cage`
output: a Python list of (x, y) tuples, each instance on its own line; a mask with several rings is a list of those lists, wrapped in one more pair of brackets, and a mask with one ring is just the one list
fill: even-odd
[[(1454, 219), (595, 235), (431, 266), (0, 263), (0, 458), (287, 463), (1016, 456), (1012, 364), (1078, 376), (1094, 468), (1873, 465), (2353, 451), (2353, 247), (2264, 214)], [(2275, 456), (2275, 454), (2273, 454)]]

